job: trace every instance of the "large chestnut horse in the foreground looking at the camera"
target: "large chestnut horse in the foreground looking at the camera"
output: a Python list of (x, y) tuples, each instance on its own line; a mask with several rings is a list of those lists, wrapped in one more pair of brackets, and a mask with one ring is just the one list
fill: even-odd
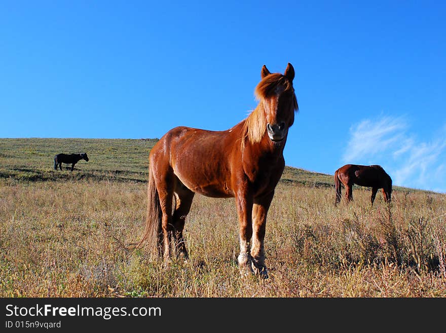
[(147, 241), (165, 263), (171, 256), (172, 235), (176, 255), (188, 258), (183, 227), (195, 193), (235, 197), (240, 272), (268, 277), (264, 254), (267, 213), (285, 166), (283, 149), (298, 102), (290, 63), (283, 75), (270, 73), (264, 65), (261, 77), (255, 88), (257, 107), (231, 129), (175, 127), (151, 150), (147, 218), (138, 246)]

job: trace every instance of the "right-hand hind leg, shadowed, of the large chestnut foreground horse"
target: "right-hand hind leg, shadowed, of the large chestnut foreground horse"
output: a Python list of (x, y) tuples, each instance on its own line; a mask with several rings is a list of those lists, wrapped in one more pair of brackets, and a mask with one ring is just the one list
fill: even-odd
[(179, 180), (175, 187), (175, 208), (173, 211), (173, 238), (175, 241), (176, 256), (184, 260), (189, 258), (184, 242), (183, 229), (186, 216), (191, 210), (192, 200), (195, 193), (185, 187)]

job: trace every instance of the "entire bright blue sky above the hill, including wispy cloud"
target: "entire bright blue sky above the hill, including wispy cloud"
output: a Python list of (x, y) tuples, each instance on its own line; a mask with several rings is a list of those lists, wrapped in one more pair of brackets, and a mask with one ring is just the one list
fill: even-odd
[[(168, 3), (168, 4), (167, 4)], [(0, 137), (224, 130), (296, 71), (289, 166), (446, 192), (446, 3), (4, 1)]]

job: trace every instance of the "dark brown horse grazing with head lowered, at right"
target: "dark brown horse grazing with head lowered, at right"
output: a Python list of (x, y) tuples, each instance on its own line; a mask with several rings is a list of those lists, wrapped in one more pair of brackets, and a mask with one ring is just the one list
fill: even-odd
[(336, 204), (341, 202), (341, 183), (345, 187), (347, 201), (353, 200), (353, 184), (371, 187), (371, 205), (375, 201), (378, 189), (383, 189), (386, 202), (390, 202), (392, 195), (392, 178), (380, 165), (346, 164), (334, 172), (336, 187)]

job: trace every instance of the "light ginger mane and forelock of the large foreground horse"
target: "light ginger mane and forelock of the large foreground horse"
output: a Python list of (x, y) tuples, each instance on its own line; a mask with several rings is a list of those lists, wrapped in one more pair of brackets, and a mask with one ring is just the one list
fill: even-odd
[(282, 93), (292, 93), (292, 108), (294, 112), (299, 111), (298, 100), (294, 94), (292, 82), (280, 73), (267, 75), (258, 83), (257, 87), (255, 87), (254, 95), (256, 99), (259, 100), (259, 103), (246, 118), (243, 125), (242, 147), (244, 147), (246, 139), (248, 139), (250, 143), (258, 143), (262, 141), (266, 132), (266, 117), (263, 100), (277, 94), (279, 87), (283, 89)]

